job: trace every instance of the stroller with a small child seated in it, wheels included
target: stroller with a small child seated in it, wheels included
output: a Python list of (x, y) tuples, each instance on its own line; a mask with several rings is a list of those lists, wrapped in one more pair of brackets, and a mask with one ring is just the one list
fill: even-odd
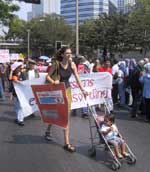
[[(91, 118), (89, 118), (89, 126), (90, 126), (90, 135), (91, 135), (91, 144), (92, 147), (89, 149), (89, 155), (91, 157), (96, 155), (96, 142), (97, 137), (93, 135), (93, 129), (96, 127), (97, 132), (99, 134), (98, 145), (105, 144), (105, 150), (110, 151), (113, 161), (111, 168), (113, 170), (117, 170), (121, 167), (121, 162), (124, 159), (128, 164), (135, 164), (136, 157), (123, 139), (122, 135), (118, 131), (117, 126), (115, 125), (115, 117), (113, 114), (109, 113), (107, 105), (104, 104), (105, 115), (98, 115), (96, 111), (94, 111), (88, 105), (88, 113), (92, 114), (91, 116), (94, 118), (95, 125), (92, 124)], [(108, 111), (108, 113), (107, 113)], [(97, 146), (98, 146), (97, 145)], [(114, 148), (114, 151), (112, 148)], [(120, 152), (121, 148), (121, 152)], [(124, 158), (123, 158), (124, 157)]]

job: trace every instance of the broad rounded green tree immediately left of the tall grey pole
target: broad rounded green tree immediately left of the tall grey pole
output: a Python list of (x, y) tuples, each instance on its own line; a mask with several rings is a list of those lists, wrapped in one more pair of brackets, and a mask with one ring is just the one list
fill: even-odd
[(71, 44), (73, 41), (72, 27), (56, 14), (35, 18), (27, 28), (30, 29), (31, 47), (39, 49), (40, 53), (49, 51), (50, 47), (54, 50), (56, 41), (62, 41), (62, 44)]

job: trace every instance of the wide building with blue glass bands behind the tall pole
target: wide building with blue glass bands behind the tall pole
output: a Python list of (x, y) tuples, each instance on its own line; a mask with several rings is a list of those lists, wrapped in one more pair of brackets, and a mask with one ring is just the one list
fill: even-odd
[[(102, 13), (109, 13), (109, 4), (113, 5), (113, 10), (117, 10), (117, 0), (79, 0), (79, 23), (86, 19), (95, 19)], [(61, 16), (67, 24), (74, 25), (76, 22), (76, 0), (61, 0)]]

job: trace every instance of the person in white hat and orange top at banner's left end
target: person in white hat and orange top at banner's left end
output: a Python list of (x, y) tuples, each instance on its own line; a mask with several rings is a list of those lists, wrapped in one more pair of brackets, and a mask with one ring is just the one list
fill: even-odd
[(24, 126), (24, 115), (22, 114), (22, 109), (21, 109), (17, 94), (15, 92), (13, 82), (18, 82), (18, 81), (23, 80), (21, 77), (22, 65), (23, 65), (22, 62), (14, 62), (11, 65), (11, 71), (9, 75), (9, 80), (12, 81), (9, 88), (9, 92), (11, 93), (10, 100), (13, 100), (14, 111), (16, 112), (16, 115), (17, 115), (15, 123), (17, 123), (19, 126)]

